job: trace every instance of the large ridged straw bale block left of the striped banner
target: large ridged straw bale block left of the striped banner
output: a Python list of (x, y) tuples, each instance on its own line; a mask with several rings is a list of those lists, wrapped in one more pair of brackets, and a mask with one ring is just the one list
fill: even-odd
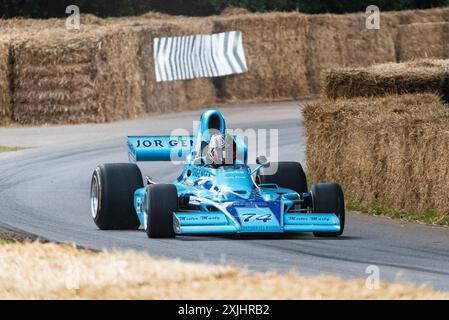
[(124, 28), (46, 29), (39, 37), (14, 39), (14, 120), (104, 122), (140, 114), (137, 43)]

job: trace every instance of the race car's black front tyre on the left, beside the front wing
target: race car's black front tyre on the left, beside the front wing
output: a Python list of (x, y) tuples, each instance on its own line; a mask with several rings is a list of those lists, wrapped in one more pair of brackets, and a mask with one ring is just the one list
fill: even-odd
[(173, 184), (152, 184), (145, 195), (145, 232), (148, 238), (174, 238), (173, 213), (178, 192)]

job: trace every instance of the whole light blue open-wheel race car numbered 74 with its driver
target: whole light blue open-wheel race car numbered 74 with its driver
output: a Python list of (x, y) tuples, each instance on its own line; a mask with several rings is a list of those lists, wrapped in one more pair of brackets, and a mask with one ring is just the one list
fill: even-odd
[[(243, 140), (226, 133), (217, 110), (205, 111), (198, 135), (128, 137), (131, 163), (102, 164), (91, 182), (91, 213), (101, 230), (137, 230), (150, 238), (191, 234), (313, 232), (338, 237), (345, 204), (336, 183), (307, 189), (299, 163), (248, 165)], [(159, 184), (146, 177), (139, 161), (185, 161), (179, 178)], [(277, 170), (270, 170), (277, 168)], [(272, 172), (273, 171), (273, 172)]]

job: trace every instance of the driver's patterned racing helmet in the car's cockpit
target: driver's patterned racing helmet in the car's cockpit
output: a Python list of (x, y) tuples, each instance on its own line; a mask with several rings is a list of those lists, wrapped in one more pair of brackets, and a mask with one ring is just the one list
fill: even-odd
[(232, 165), (237, 159), (237, 144), (234, 138), (225, 134), (213, 135), (210, 139), (208, 160), (214, 165)]

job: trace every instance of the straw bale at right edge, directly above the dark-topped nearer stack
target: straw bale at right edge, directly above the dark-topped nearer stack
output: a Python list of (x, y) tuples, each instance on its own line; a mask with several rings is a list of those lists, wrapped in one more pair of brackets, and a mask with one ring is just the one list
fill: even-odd
[(414, 23), (399, 27), (399, 58), (449, 58), (449, 22)]

